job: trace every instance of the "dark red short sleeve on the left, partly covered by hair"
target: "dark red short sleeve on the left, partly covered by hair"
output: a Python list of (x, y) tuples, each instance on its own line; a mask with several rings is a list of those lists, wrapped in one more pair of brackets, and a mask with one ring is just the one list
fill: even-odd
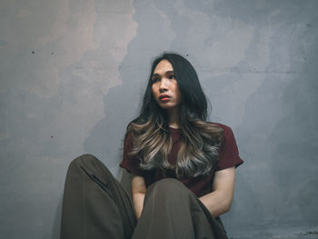
[(124, 153), (123, 161), (119, 164), (122, 168), (126, 169), (128, 173), (143, 176), (143, 171), (139, 168), (140, 160), (131, 154), (134, 147), (133, 139), (131, 134), (126, 134), (124, 137)]

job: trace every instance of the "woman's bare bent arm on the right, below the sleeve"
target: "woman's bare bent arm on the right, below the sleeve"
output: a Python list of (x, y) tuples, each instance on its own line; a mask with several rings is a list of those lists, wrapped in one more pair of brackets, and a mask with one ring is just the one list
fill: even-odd
[(230, 211), (234, 196), (235, 167), (216, 171), (214, 174), (213, 192), (200, 197), (201, 202), (217, 217)]

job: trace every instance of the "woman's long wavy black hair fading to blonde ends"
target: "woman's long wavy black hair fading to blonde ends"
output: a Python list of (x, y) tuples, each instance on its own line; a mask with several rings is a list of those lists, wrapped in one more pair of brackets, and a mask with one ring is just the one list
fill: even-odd
[[(173, 145), (169, 115), (155, 102), (152, 92), (154, 68), (164, 59), (173, 66), (183, 95), (179, 117), (181, 146), (175, 165), (168, 162)], [(164, 53), (154, 59), (140, 115), (127, 126), (127, 134), (133, 135), (131, 154), (140, 159), (144, 170), (174, 170), (177, 178), (209, 174), (218, 158), (223, 131), (218, 125), (207, 123), (206, 117), (207, 101), (194, 66), (181, 55)]]

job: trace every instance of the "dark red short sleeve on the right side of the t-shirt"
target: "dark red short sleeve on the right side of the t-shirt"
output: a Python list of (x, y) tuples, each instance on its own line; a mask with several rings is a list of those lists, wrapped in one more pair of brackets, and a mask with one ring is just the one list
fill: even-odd
[(216, 165), (217, 171), (234, 166), (238, 167), (243, 164), (232, 129), (224, 124), (220, 126), (224, 129), (224, 138), (219, 148), (219, 161)]

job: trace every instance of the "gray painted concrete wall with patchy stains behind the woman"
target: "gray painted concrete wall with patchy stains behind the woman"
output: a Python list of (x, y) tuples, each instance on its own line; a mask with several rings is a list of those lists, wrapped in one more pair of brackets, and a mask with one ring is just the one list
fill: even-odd
[(317, 9), (314, 0), (2, 0), (0, 237), (58, 237), (67, 165), (80, 154), (122, 178), (125, 125), (165, 50), (194, 64), (211, 120), (233, 128), (245, 161), (228, 233), (313, 231)]

